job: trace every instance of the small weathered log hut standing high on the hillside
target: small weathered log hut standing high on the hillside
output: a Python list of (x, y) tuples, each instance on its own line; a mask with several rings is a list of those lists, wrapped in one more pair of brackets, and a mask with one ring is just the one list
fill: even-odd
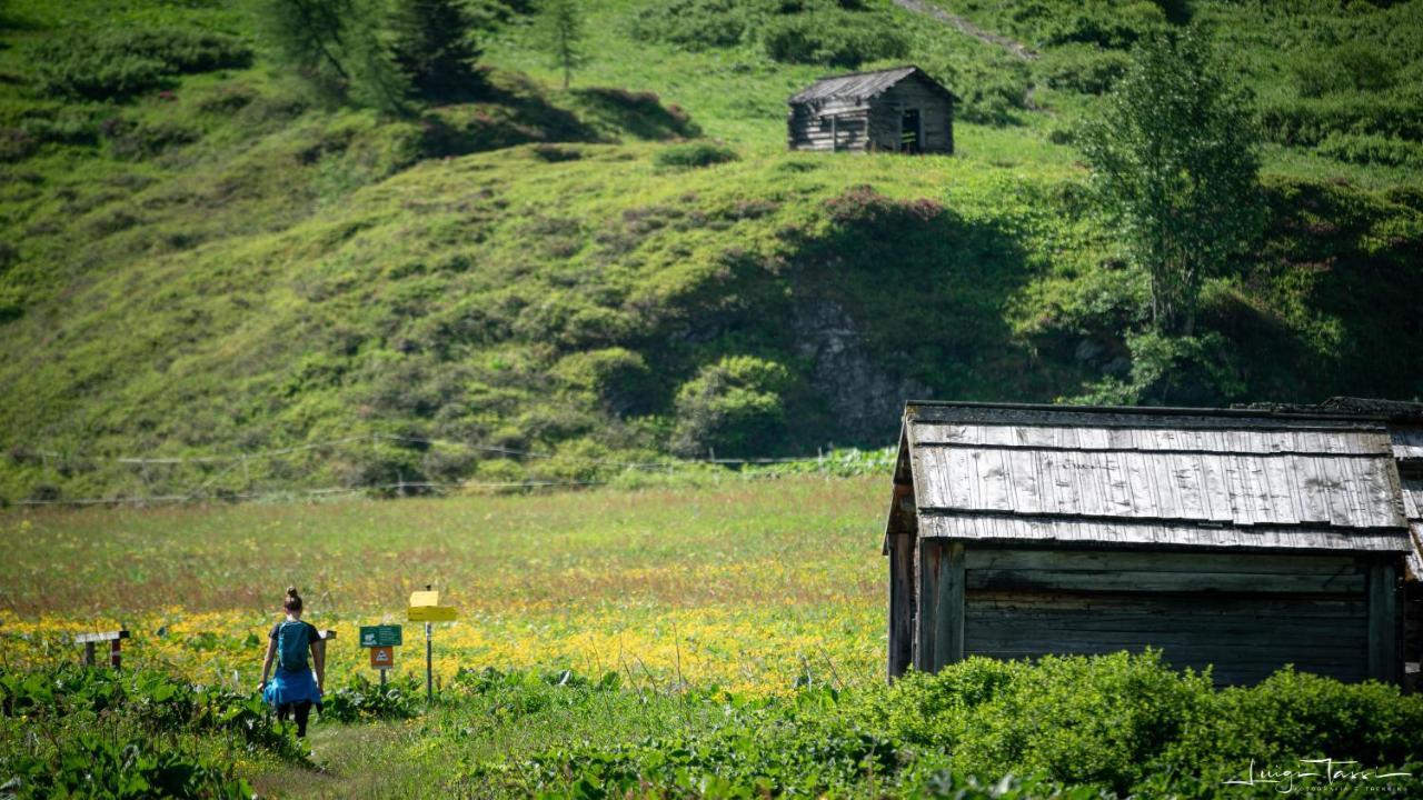
[(958, 98), (918, 67), (831, 75), (790, 98), (791, 149), (953, 152)]

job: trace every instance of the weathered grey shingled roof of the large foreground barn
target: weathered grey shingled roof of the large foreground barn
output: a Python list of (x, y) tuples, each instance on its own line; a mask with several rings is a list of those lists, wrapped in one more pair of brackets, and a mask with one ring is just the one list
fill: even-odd
[(1412, 549), (1389, 427), (1358, 414), (909, 403), (895, 484), (889, 532), (921, 537)]

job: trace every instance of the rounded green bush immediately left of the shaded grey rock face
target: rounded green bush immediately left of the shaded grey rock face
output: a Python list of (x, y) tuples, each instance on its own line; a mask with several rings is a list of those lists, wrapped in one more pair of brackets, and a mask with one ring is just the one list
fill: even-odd
[(670, 447), (679, 456), (757, 456), (778, 450), (785, 436), (784, 366), (754, 356), (727, 356), (703, 367), (677, 390)]

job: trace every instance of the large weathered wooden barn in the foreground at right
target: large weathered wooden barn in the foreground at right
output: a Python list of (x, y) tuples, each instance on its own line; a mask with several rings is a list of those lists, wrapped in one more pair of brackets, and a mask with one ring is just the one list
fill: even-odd
[(1414, 554), (1396, 427), (909, 403), (885, 534), (889, 675), (1154, 646), (1222, 685), (1286, 663), (1396, 682)]

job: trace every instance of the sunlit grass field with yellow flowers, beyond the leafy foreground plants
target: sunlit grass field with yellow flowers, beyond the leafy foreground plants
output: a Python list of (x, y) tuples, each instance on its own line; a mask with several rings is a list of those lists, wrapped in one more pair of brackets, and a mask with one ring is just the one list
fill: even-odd
[[(0, 515), (4, 666), (77, 660), (132, 632), (125, 666), (256, 683), (287, 585), (337, 631), (327, 685), (374, 676), (360, 625), (433, 584), (441, 678), (461, 668), (619, 672), (633, 685), (788, 690), (884, 670), (882, 480), (729, 478), (700, 490), (18, 511)], [(397, 673), (423, 669), (406, 622)]]

